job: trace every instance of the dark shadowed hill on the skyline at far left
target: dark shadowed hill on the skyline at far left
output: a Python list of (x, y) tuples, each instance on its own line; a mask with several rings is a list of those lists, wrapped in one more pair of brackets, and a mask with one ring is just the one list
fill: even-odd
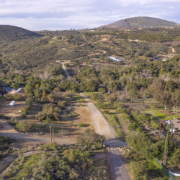
[(0, 25), (0, 39), (2, 41), (16, 41), (20, 39), (29, 39), (32, 37), (41, 37), (35, 32), (9, 25)]

